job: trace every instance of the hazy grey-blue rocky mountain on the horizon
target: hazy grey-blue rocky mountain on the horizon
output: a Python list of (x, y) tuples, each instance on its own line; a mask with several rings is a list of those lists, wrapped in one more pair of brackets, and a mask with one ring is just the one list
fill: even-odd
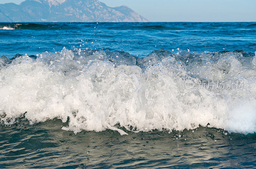
[(0, 22), (148, 22), (127, 6), (97, 0), (26, 0), (0, 4)]

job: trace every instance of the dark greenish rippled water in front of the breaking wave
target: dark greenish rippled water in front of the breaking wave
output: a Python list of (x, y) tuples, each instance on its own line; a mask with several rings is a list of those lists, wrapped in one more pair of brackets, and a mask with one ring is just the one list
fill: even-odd
[[(60, 120), (1, 126), (1, 168), (240, 168), (255, 167), (256, 136), (199, 127), (120, 136), (61, 130)], [(194, 131), (194, 132), (193, 132)], [(227, 135), (225, 135), (225, 133)]]

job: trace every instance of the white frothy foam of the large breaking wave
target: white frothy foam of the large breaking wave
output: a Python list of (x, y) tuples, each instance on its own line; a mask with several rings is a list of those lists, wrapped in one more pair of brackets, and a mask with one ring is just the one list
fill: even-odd
[[(79, 53), (79, 54), (78, 54)], [(68, 119), (64, 130), (184, 130), (198, 125), (256, 131), (255, 57), (241, 53), (173, 54), (145, 58), (125, 52), (63, 48), (37, 59), (0, 60), (0, 116), (5, 124), (25, 112), (31, 123)], [(240, 80), (243, 88), (187, 90), (185, 80)]]

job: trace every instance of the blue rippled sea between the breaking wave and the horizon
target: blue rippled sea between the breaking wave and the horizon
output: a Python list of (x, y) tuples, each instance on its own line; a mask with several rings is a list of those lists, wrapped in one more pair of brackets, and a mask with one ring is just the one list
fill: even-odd
[[(63, 46), (124, 50), (146, 56), (156, 49), (171, 51), (256, 50), (256, 23), (6, 23), (1, 30), (0, 54), (35, 55), (60, 51)], [(83, 40), (84, 42), (81, 42)], [(93, 43), (92, 43), (93, 42)]]

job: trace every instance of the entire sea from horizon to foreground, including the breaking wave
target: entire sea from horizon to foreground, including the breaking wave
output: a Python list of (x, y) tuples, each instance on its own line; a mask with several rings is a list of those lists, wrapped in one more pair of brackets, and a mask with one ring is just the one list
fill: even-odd
[(0, 46), (0, 168), (256, 167), (255, 22), (0, 23)]

